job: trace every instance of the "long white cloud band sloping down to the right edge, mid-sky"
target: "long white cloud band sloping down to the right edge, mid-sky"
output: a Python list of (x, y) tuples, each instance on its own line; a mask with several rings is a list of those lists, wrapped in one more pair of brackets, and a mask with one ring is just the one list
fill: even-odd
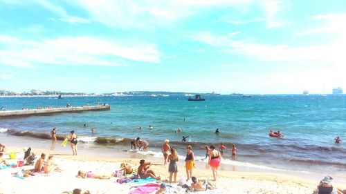
[(346, 50), (346, 37), (328, 44), (300, 47), (235, 41), (230, 37), (212, 35), (210, 32), (201, 32), (194, 39), (260, 61), (316, 61), (338, 66), (346, 63), (346, 56), (343, 54), (343, 50)]

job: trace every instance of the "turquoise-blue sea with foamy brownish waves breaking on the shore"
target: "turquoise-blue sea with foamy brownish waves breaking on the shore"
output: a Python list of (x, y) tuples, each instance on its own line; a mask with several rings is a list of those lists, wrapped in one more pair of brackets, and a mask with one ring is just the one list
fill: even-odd
[[(20, 138), (21, 142), (23, 138), (50, 142), (47, 135), (55, 127), (61, 135), (75, 130), (78, 146), (105, 152), (136, 152), (130, 142), (140, 137), (149, 142), (149, 151), (138, 154), (162, 157), (161, 146), (169, 139), (181, 157), (185, 157), (185, 147), (192, 145), (197, 162), (207, 162), (203, 146), (224, 143), (228, 150), (223, 165), (346, 180), (346, 142), (334, 143), (337, 136), (346, 141), (346, 95), (203, 97), (206, 101), (188, 101), (183, 95), (1, 97), (0, 107), (10, 110), (96, 105), (98, 101), (109, 104), (111, 110), (0, 119), (0, 143)], [(176, 133), (178, 128), (181, 133)], [(280, 130), (284, 137), (269, 137), (270, 129)], [(23, 131), (30, 133), (16, 136)], [(181, 142), (183, 136), (188, 136), (187, 142)], [(235, 159), (230, 153), (233, 144), (238, 150)]]

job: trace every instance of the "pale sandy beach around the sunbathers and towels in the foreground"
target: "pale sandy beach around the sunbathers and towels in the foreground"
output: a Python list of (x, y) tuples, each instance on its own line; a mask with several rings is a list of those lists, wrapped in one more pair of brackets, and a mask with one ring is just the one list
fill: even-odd
[[(22, 152), (22, 149), (15, 145), (8, 145), (8, 152)], [(82, 179), (76, 177), (76, 175), (79, 170), (111, 175), (118, 170), (122, 162), (127, 162), (136, 169), (140, 159), (98, 157), (97, 155), (73, 156), (39, 148), (33, 148), (33, 152), (37, 156), (40, 153), (54, 155), (54, 162), (62, 171), (48, 175), (39, 174), (19, 178), (15, 177), (13, 173), (20, 171), (21, 168), (2, 169), (0, 170), (0, 193), (63, 193), (64, 191), (73, 191), (75, 188), (81, 188), (82, 191), (90, 191), (90, 193), (129, 193), (129, 191), (139, 186), (135, 183), (119, 184), (116, 182), (118, 177), (111, 177), (109, 180), (98, 180)], [(152, 158), (146, 159), (146, 161), (156, 164), (150, 168), (158, 175), (161, 175), (162, 182), (168, 182), (168, 167), (163, 166), (161, 159)], [(30, 169), (34, 166), (24, 166), (22, 168)], [(199, 166), (194, 168), (194, 175), (199, 180), (208, 180), (216, 187), (213, 190), (208, 190), (208, 192), (200, 193), (313, 193), (318, 184), (292, 175), (241, 171), (219, 171), (219, 180), (213, 182), (211, 170)], [(186, 176), (183, 162), (179, 162), (178, 179), (181, 176)], [(346, 188), (343, 184), (334, 184), (335, 186)], [(185, 189), (179, 190), (179, 193), (185, 193)]]

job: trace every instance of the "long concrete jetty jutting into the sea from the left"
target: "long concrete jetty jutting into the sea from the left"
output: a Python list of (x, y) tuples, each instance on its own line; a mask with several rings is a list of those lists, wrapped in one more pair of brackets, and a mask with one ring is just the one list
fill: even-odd
[(0, 111), (0, 119), (8, 119), (12, 117), (29, 117), (36, 115), (53, 115), (57, 113), (78, 113), (83, 111), (100, 111), (110, 110), (111, 106), (75, 106), (63, 108), (42, 108), (42, 109), (29, 109), (29, 110), (8, 110)]

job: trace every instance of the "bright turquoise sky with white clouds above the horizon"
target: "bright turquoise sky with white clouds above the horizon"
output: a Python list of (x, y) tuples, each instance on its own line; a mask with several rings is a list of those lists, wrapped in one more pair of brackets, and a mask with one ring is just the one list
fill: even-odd
[(346, 1), (0, 0), (0, 90), (346, 89)]

